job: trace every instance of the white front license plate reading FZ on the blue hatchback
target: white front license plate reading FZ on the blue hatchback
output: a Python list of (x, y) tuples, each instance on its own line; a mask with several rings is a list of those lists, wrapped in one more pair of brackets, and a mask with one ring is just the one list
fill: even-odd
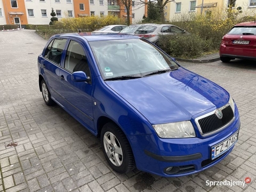
[(238, 131), (235, 134), (232, 134), (232, 136), (230, 136), (229, 138), (227, 138), (227, 140), (221, 141), (221, 143), (214, 145), (214, 147), (212, 147), (212, 159), (216, 159), (217, 157), (227, 152), (228, 149), (235, 145), (237, 139)]

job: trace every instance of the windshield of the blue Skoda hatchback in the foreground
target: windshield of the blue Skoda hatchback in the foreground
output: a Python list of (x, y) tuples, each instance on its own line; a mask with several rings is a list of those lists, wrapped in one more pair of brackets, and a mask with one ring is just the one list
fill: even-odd
[(179, 67), (163, 51), (143, 39), (89, 42), (104, 80), (134, 79)]

